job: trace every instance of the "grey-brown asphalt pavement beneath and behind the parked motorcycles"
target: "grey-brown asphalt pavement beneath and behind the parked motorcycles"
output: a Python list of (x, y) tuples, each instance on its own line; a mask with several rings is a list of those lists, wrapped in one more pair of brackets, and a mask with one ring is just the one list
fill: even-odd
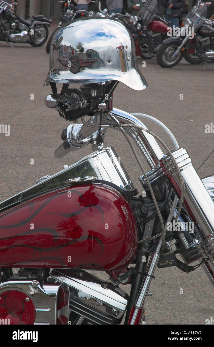
[[(56, 25), (52, 24), (50, 33)], [(119, 83), (113, 95), (114, 107), (158, 118), (175, 135), (179, 146), (188, 151), (199, 176), (214, 174), (214, 131), (205, 133), (207, 124), (214, 125), (214, 66), (207, 65), (203, 72), (203, 65), (190, 65), (183, 59), (176, 67), (163, 69), (155, 58), (145, 60), (146, 67), (142, 67), (141, 58), (137, 60), (149, 86), (134, 91)], [(54, 151), (62, 142), (61, 132), (69, 122), (44, 104), (51, 92), (50, 87), (43, 88), (48, 65), (45, 45), (35, 48), (15, 43), (12, 49), (0, 42), (0, 124), (10, 125), (10, 136), (0, 133), (0, 201), (92, 152), (89, 145), (64, 159), (55, 158)], [(145, 125), (173, 150), (160, 127), (150, 121)], [(134, 184), (141, 189), (141, 171), (126, 140), (111, 129), (105, 142), (114, 146)], [(105, 272), (97, 274), (109, 279)], [(213, 287), (202, 268), (188, 274), (175, 267), (157, 269), (155, 276), (150, 286), (153, 296), (146, 302), (147, 324), (205, 324), (206, 319), (214, 317)]]

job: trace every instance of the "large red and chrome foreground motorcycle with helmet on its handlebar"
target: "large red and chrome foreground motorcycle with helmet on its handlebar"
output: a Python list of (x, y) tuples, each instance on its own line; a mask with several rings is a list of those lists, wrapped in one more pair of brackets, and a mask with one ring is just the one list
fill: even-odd
[[(188, 273), (201, 265), (214, 285), (214, 176), (199, 178), (187, 151), (158, 119), (113, 108), (118, 81), (135, 90), (148, 85), (124, 26), (108, 19), (79, 22), (53, 38), (44, 84), (52, 94), (45, 103), (73, 121), (62, 132), (56, 158), (89, 144), (93, 153), (0, 203), (0, 317), (10, 324), (120, 324), (124, 315), (124, 324), (145, 324), (157, 266)], [(92, 43), (89, 36), (84, 41), (89, 29)], [(110, 48), (103, 50), (107, 41)], [(75, 81), (83, 84), (69, 88)], [(141, 120), (161, 126), (174, 150)], [(114, 148), (104, 146), (109, 128), (125, 136), (142, 170), (140, 194)], [(178, 228), (168, 228), (176, 223)], [(189, 265), (196, 260), (197, 266)], [(87, 270), (106, 271), (111, 282)], [(130, 296), (120, 288), (127, 284)]]

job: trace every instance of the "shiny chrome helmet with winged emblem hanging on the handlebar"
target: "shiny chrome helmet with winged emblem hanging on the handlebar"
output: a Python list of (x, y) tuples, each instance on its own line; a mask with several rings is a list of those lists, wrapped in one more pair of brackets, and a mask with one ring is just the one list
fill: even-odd
[(44, 86), (49, 82), (113, 80), (135, 90), (148, 86), (137, 66), (133, 38), (121, 23), (106, 18), (81, 18), (58, 29), (50, 47)]

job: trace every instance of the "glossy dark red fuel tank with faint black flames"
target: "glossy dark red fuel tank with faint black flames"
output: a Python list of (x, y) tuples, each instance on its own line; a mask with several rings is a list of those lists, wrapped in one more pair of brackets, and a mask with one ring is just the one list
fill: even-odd
[(119, 270), (136, 250), (130, 205), (104, 184), (59, 189), (0, 214), (0, 267)]

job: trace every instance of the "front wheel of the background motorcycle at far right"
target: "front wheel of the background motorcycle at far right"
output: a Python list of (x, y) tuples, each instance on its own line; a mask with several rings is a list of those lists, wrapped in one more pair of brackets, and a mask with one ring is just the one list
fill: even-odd
[(179, 52), (175, 58), (173, 57), (178, 46), (179, 44), (176, 43), (161, 44), (156, 54), (158, 65), (163, 68), (170, 68), (177, 65), (183, 58), (182, 52)]

